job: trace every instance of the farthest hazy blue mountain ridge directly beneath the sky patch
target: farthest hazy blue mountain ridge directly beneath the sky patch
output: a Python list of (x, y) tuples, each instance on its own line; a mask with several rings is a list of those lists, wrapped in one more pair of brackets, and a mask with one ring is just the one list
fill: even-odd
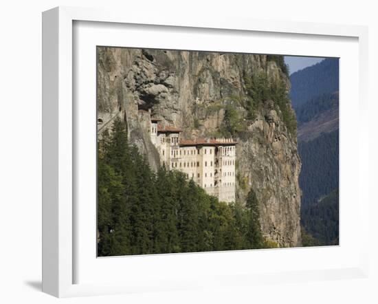
[(326, 58), (291, 74), (290, 80), (290, 99), (296, 109), (315, 96), (339, 91), (339, 61), (337, 58)]

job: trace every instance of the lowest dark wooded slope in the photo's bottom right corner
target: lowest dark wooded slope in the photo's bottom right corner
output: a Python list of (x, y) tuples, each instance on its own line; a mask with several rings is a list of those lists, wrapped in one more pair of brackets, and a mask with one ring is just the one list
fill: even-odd
[(301, 224), (315, 238), (304, 246), (339, 244), (339, 190), (335, 189), (320, 202), (302, 206)]

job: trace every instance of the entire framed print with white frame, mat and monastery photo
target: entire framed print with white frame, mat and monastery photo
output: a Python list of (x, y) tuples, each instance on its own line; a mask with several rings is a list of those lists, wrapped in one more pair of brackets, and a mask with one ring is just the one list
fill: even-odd
[(44, 12), (43, 291), (365, 276), (366, 39)]

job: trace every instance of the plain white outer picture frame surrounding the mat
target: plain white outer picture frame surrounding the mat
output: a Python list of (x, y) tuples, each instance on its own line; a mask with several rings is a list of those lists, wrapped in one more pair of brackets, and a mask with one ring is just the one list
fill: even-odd
[[(359, 259), (346, 267), (318, 270), (296, 269), (295, 271), (225, 272), (216, 277), (194, 276), (187, 280), (164, 277), (157, 285), (111, 282), (75, 283), (78, 267), (75, 254), (78, 244), (75, 237), (76, 212), (74, 206), (74, 157), (76, 134), (74, 128), (74, 22), (106, 22), (107, 24), (151, 25), (164, 27), (195, 28), (197, 30), (231, 30), (237, 32), (259, 32), (308, 36), (351, 37), (358, 39), (358, 102), (359, 146), (356, 169), (358, 171), (359, 232), (361, 242), (356, 245)], [(216, 19), (209, 17), (172, 16), (169, 19), (146, 14), (125, 15), (122, 12), (60, 7), (43, 12), (43, 292), (58, 297), (85, 296), (144, 292), (148, 290), (177, 290), (195, 287), (223, 285), (254, 285), (256, 282), (280, 283), (285, 281), (311, 281), (322, 279), (343, 279), (366, 277), (368, 275), (368, 252), (366, 243), (368, 229), (368, 183), (361, 182), (361, 176), (368, 176), (368, 130), (367, 127), (367, 74), (368, 74), (368, 31), (355, 25), (329, 25), (319, 23), (293, 23), (286, 21), (258, 21), (253, 19)], [(340, 200), (342, 204), (342, 200)], [(267, 254), (265, 252), (260, 252)], [(247, 252), (228, 252), (248, 254)], [(285, 254), (290, 255), (291, 252)], [(200, 254), (197, 254), (197, 257)], [(175, 256), (177, 257), (177, 256)], [(164, 263), (169, 263), (165, 255)], [(200, 258), (199, 258), (200, 259)], [(136, 260), (135, 260), (136, 261)], [(113, 264), (116, 259), (113, 259)], [(107, 281), (107, 283), (105, 283)]]

